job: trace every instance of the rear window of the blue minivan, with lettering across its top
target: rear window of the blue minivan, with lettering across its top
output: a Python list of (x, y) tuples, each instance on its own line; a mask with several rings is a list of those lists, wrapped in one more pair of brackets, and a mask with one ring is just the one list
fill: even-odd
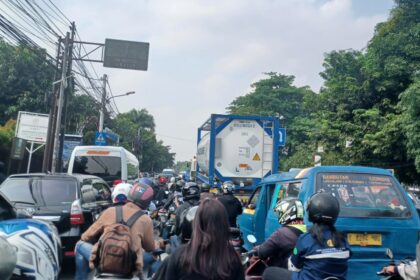
[(340, 217), (407, 218), (411, 211), (391, 176), (362, 173), (319, 173), (318, 191), (340, 202)]

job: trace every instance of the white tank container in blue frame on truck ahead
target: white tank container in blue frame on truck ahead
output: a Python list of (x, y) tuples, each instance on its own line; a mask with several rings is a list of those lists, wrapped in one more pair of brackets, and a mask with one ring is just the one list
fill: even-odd
[(212, 114), (198, 128), (197, 181), (232, 181), (246, 195), (277, 172), (279, 138), (277, 117)]

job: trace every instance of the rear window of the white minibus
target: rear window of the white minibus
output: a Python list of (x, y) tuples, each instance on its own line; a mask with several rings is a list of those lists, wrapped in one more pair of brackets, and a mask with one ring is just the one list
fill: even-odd
[(77, 156), (73, 173), (99, 176), (103, 179), (121, 177), (121, 158), (113, 156)]

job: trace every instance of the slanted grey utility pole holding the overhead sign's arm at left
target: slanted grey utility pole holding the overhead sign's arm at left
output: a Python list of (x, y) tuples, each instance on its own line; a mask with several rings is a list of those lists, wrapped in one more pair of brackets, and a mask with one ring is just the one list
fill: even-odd
[(60, 80), (60, 92), (58, 93), (58, 109), (57, 109), (57, 122), (55, 126), (54, 133), (54, 148), (53, 148), (53, 160), (51, 171), (55, 173), (57, 167), (58, 153), (59, 153), (59, 136), (61, 130), (61, 115), (63, 111), (64, 104), (64, 90), (67, 87), (67, 61), (69, 55), (69, 45), (70, 45), (70, 33), (66, 33), (66, 38), (64, 39), (64, 51), (63, 51), (63, 63), (61, 70), (61, 80)]

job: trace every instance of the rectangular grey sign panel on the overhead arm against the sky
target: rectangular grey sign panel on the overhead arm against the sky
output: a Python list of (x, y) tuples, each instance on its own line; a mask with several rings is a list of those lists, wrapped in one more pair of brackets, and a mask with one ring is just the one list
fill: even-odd
[(104, 67), (147, 71), (149, 43), (105, 39)]

